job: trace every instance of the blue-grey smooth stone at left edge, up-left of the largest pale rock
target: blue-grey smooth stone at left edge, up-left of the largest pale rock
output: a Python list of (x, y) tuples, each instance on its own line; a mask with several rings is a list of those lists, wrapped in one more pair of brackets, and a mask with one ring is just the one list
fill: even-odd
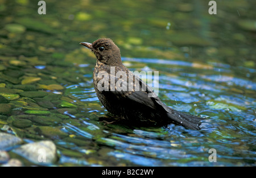
[(0, 150), (8, 150), (10, 147), (20, 143), (22, 143), (22, 139), (19, 137), (11, 134), (0, 133)]

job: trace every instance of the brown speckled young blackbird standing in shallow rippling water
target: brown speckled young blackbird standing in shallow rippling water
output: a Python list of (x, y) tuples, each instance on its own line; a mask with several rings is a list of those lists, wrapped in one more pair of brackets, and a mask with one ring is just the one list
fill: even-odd
[(200, 129), (203, 118), (163, 104), (149, 86), (122, 64), (120, 50), (111, 39), (80, 44), (91, 49), (97, 57), (93, 71), (94, 89), (109, 113), (143, 126), (175, 123), (188, 129)]

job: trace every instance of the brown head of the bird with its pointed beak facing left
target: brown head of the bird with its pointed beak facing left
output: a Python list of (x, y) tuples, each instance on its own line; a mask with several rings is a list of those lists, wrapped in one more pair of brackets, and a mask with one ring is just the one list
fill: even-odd
[(111, 66), (122, 65), (120, 50), (111, 39), (100, 38), (93, 43), (81, 42), (80, 44), (91, 49), (101, 63)]

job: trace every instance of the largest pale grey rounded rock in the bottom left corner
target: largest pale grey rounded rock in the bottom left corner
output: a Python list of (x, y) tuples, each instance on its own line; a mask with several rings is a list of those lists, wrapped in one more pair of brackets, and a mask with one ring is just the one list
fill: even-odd
[(56, 146), (49, 140), (27, 143), (19, 148), (15, 148), (13, 151), (30, 162), (39, 165), (52, 164), (57, 159)]

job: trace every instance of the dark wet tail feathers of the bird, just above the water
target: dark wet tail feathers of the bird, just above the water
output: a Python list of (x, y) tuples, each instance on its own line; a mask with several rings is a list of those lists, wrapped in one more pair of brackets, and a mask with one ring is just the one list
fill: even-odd
[(173, 110), (174, 113), (167, 113), (168, 117), (171, 118), (177, 125), (187, 127), (188, 129), (200, 130), (200, 121), (204, 118), (196, 117), (194, 115), (188, 115), (181, 113), (180, 111)]

